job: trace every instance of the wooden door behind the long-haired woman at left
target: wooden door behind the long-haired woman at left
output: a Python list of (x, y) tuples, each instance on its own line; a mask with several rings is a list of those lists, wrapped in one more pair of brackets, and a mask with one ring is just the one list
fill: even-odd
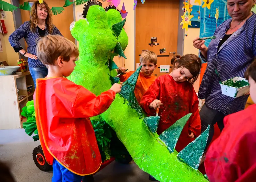
[[(36, 0), (29, 0), (28, 2), (34, 2), (34, 1)], [(62, 7), (65, 4), (63, 0), (44, 0), (44, 1), (48, 4), (49, 8)], [(19, 0), (20, 4), (23, 4), (24, 2), (27, 2), (27, 0)], [(20, 11), (21, 11), (22, 23), (24, 23), (25, 21), (29, 21), (30, 20), (29, 11), (26, 11), (26, 10), (20, 10)], [(72, 37), (69, 30), (70, 24), (74, 21), (73, 6), (64, 7), (64, 11), (62, 12), (62, 14), (53, 15), (52, 19), (53, 19), (53, 24), (59, 29), (60, 33), (65, 38), (75, 43), (75, 39)], [(27, 48), (27, 44), (26, 44), (26, 48)]]

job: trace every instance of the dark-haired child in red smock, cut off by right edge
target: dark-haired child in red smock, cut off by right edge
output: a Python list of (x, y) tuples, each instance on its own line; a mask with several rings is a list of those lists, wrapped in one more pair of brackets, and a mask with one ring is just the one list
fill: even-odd
[(256, 179), (256, 60), (245, 76), (254, 104), (224, 118), (224, 129), (210, 145), (204, 161), (211, 182)]

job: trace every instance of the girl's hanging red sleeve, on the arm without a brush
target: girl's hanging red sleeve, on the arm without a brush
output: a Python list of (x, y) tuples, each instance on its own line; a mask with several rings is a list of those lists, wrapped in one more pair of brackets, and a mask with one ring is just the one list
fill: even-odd
[(195, 136), (198, 137), (201, 134), (201, 119), (198, 110), (199, 101), (193, 86), (191, 86), (190, 93), (190, 95), (192, 95), (192, 104), (189, 112), (191, 112), (192, 115), (189, 118), (189, 131), (192, 131)]

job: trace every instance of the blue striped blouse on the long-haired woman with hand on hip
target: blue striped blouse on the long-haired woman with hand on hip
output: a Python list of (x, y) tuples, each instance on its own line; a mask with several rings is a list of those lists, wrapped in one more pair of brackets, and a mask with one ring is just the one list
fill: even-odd
[[(48, 29), (47, 29), (47, 24), (45, 25), (45, 35), (48, 35)], [(61, 35), (60, 31), (54, 26), (52, 35)], [(24, 22), (17, 30), (15, 30), (9, 37), (9, 42), (13, 48), (22, 48), (21, 44), (19, 43), (19, 40), (24, 39), (27, 42), (28, 48), (27, 52), (29, 54), (37, 55), (36, 54), (36, 45), (38, 38), (40, 37), (38, 33), (38, 29), (36, 28), (36, 31), (30, 31), (30, 22)], [(20, 50), (20, 49), (18, 49)], [(39, 60), (33, 60), (28, 58), (28, 64), (29, 67), (32, 68), (41, 68), (45, 67), (45, 65)]]

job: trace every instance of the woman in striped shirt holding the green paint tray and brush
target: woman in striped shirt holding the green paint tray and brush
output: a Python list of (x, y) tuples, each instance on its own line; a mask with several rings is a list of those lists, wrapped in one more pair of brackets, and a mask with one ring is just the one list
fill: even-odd
[(228, 0), (227, 10), (231, 19), (216, 29), (216, 39), (211, 41), (208, 48), (204, 40), (193, 40), (194, 47), (200, 50), (201, 58), (208, 61), (198, 92), (199, 98), (205, 98), (200, 111), (201, 132), (210, 125), (206, 148), (214, 135), (214, 124), (217, 122), (222, 130), (224, 116), (245, 107), (248, 95), (232, 98), (222, 94), (215, 69), (222, 81), (244, 77), (256, 56), (256, 15), (251, 12), (255, 3), (256, 0)]

